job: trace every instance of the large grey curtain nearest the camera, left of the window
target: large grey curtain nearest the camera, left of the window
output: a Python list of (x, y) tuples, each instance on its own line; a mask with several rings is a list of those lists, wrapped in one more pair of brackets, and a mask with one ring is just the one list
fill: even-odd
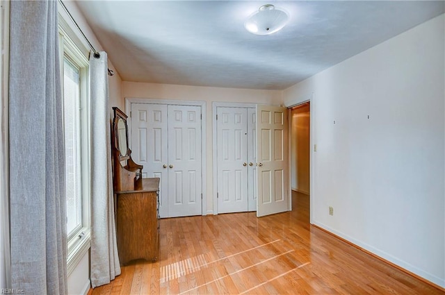
[(67, 294), (56, 1), (10, 1), (9, 69), (12, 287)]

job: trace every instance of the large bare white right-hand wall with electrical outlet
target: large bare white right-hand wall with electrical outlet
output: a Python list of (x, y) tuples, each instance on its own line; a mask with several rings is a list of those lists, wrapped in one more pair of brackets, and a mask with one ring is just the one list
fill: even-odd
[(286, 106), (313, 94), (314, 224), (442, 287), (444, 27), (435, 17), (283, 93)]

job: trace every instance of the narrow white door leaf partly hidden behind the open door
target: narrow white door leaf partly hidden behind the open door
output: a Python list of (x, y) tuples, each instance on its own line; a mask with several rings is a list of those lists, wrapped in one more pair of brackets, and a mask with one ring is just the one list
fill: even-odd
[(257, 112), (248, 108), (248, 211), (257, 211)]

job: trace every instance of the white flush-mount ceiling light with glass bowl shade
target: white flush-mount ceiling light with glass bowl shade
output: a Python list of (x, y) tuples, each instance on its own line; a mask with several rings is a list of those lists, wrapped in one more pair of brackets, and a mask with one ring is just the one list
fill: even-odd
[(272, 4), (266, 4), (250, 15), (244, 26), (252, 34), (270, 35), (280, 31), (286, 25), (288, 19), (287, 12), (275, 8)]

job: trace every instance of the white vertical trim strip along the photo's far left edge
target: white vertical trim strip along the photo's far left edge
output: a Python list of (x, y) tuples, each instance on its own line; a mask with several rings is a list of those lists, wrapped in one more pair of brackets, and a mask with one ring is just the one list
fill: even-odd
[[(0, 288), (10, 288), (10, 233), (9, 233), (9, 1), (0, 1)], [(6, 61), (6, 62), (3, 62)]]

